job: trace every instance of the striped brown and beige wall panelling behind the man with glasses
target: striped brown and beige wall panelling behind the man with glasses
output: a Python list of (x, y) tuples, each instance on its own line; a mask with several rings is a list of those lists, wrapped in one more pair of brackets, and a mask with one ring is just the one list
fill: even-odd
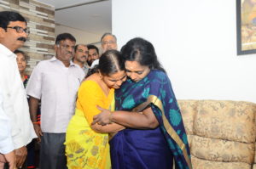
[(29, 56), (30, 73), (40, 60), (55, 54), (55, 8), (36, 0), (0, 0), (0, 11), (19, 12), (27, 21), (30, 35), (20, 50)]

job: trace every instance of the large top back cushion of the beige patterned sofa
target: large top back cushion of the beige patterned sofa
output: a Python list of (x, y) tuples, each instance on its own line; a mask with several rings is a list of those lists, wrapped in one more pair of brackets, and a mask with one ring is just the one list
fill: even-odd
[(243, 143), (256, 138), (255, 104), (236, 101), (203, 100), (195, 114), (194, 133), (201, 137)]

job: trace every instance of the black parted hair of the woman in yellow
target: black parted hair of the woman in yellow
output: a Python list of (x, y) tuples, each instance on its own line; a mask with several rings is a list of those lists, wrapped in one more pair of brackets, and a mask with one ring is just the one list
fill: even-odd
[[(98, 71), (102, 76), (110, 76), (120, 70), (125, 70), (125, 62), (121, 54), (117, 50), (108, 50), (103, 53), (99, 59), (99, 65), (96, 65), (93, 69), (90, 69), (87, 76)], [(87, 77), (86, 76), (86, 77)]]

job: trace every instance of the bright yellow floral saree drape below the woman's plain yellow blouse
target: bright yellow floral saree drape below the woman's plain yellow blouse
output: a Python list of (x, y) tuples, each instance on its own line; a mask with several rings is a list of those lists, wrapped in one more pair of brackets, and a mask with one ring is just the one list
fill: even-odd
[(108, 133), (94, 132), (82, 110), (76, 109), (66, 135), (68, 169), (110, 169)]

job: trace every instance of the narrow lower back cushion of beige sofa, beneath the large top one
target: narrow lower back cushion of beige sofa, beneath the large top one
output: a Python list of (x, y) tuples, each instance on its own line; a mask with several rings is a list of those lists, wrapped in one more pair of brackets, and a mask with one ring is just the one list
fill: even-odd
[(254, 144), (194, 136), (191, 140), (190, 152), (202, 160), (253, 164), (254, 146)]

